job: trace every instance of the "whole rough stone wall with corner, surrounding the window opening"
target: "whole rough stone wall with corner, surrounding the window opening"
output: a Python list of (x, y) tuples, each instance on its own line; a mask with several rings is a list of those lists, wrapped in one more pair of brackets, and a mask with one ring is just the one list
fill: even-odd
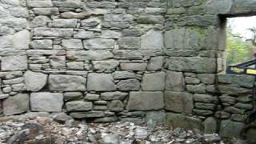
[(255, 0), (0, 0), (0, 114), (238, 137), (254, 77), (222, 73), (225, 22), (254, 14)]

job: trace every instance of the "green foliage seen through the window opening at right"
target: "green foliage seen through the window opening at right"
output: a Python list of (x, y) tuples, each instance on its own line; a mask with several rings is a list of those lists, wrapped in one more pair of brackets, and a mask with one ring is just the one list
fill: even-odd
[(254, 57), (254, 50), (250, 42), (244, 41), (242, 38), (231, 34), (227, 30), (226, 40), (226, 65), (246, 62)]

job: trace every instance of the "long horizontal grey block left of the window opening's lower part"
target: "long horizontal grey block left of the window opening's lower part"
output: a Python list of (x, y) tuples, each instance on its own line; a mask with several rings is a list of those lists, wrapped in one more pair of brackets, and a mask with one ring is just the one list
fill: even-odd
[(186, 71), (195, 73), (215, 73), (216, 58), (200, 57), (171, 57), (167, 59), (169, 70)]

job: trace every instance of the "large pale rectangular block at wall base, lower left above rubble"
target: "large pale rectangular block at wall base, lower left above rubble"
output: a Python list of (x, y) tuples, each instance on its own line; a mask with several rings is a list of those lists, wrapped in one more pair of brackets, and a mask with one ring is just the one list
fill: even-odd
[(62, 106), (62, 93), (40, 92), (30, 94), (30, 107), (32, 111), (61, 112)]

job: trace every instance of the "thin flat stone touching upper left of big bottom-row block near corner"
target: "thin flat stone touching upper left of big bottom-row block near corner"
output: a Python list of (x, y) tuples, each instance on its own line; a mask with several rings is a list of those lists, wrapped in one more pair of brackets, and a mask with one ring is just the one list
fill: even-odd
[(110, 100), (123, 100), (124, 98), (126, 98), (128, 96), (127, 93), (123, 93), (123, 92), (106, 92), (106, 93), (102, 93), (101, 94), (101, 99), (102, 100), (106, 100), (106, 101), (110, 101)]

